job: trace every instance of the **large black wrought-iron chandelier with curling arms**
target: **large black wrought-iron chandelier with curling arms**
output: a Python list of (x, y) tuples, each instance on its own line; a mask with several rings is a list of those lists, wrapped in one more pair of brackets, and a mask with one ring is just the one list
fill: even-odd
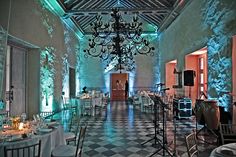
[(135, 68), (134, 56), (154, 55), (154, 47), (142, 37), (142, 23), (134, 16), (131, 23), (127, 23), (121, 17), (117, 8), (112, 9), (111, 19), (104, 23), (100, 15), (96, 16), (95, 22), (91, 23), (92, 38), (89, 46), (84, 50), (87, 58), (99, 57), (107, 62), (107, 66), (116, 60), (116, 70), (127, 67), (131, 71)]

